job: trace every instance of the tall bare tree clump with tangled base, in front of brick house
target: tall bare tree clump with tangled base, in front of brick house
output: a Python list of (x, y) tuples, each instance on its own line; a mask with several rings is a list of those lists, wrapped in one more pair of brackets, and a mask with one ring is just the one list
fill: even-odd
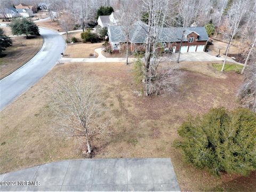
[(160, 48), (159, 42), (162, 42), (162, 30), (166, 25), (168, 15), (166, 7), (170, 3), (169, 0), (143, 0), (143, 10), (148, 13), (148, 23), (142, 26), (146, 31), (146, 52), (143, 59), (145, 95), (157, 94), (165, 85), (174, 83), (170, 82), (171, 77), (175, 77), (174, 70), (169, 68), (170, 70), (160, 72), (159, 65), (163, 61), (158, 57), (157, 52)]

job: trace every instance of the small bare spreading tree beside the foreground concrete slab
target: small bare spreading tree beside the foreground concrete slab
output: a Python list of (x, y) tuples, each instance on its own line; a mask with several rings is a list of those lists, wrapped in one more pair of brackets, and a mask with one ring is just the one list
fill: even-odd
[(52, 96), (56, 115), (57, 133), (81, 139), (92, 153), (92, 141), (106, 130), (106, 122), (100, 123), (103, 109), (99, 101), (97, 82), (85, 81), (87, 74), (78, 69), (55, 80)]

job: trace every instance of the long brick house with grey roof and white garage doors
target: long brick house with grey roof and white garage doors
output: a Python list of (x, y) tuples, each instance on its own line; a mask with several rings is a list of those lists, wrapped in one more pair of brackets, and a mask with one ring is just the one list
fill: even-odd
[[(146, 31), (148, 27), (145, 23), (138, 21), (131, 28), (129, 49), (130, 51), (145, 51)], [(172, 27), (163, 28), (161, 36), (158, 38), (160, 49), (179, 52), (180, 38), (182, 28)], [(114, 52), (120, 52), (122, 44), (126, 43), (122, 26), (109, 26), (108, 28), (109, 43)], [(205, 49), (208, 35), (204, 27), (189, 27), (183, 37), (181, 53), (183, 52), (203, 52)]]

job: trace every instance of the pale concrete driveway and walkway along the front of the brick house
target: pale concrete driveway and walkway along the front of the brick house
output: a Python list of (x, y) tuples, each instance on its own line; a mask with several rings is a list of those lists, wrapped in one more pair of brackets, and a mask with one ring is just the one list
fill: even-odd
[[(59, 62), (126, 62), (126, 58), (106, 58), (102, 55), (101, 51), (103, 48), (95, 49), (94, 51), (99, 54), (97, 58), (65, 58), (62, 57)], [(169, 54), (165, 60), (169, 61), (177, 61), (178, 53)], [(195, 52), (195, 53), (181, 53), (180, 54), (180, 62), (181, 61), (223, 61), (225, 56), (218, 58), (214, 55), (211, 55), (206, 52)], [(129, 62), (134, 62), (136, 58), (129, 58)], [(227, 62), (236, 63), (239, 65), (243, 65), (242, 63), (238, 63), (235, 60), (228, 58)]]

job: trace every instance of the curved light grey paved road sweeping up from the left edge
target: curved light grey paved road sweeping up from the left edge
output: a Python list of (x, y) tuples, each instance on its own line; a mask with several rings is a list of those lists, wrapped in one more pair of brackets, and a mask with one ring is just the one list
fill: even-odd
[(0, 81), (0, 110), (42, 78), (60, 59), (64, 39), (56, 32), (39, 28), (44, 39), (41, 50), (29, 62)]

